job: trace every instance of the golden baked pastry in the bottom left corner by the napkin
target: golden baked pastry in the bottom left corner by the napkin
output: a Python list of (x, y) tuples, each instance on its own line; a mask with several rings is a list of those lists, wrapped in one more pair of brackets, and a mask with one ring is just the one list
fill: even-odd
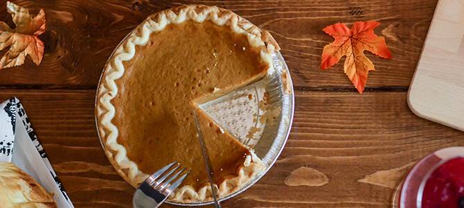
[(57, 207), (53, 195), (15, 164), (0, 162), (0, 207)]

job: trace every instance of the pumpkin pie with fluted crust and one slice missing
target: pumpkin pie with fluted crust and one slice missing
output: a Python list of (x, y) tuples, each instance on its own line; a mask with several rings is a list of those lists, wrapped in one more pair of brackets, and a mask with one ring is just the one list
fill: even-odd
[(190, 175), (170, 200), (211, 200), (196, 110), (220, 196), (240, 189), (265, 165), (197, 103), (266, 76), (277, 49), (269, 33), (222, 8), (180, 6), (148, 17), (111, 55), (100, 80), (98, 132), (111, 164), (137, 187), (181, 162)]

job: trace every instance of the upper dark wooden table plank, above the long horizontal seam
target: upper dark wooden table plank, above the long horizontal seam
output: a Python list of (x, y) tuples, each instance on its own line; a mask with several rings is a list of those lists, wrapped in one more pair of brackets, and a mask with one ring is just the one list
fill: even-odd
[[(342, 64), (319, 69), (322, 47), (332, 42), (321, 29), (336, 22), (375, 19), (379, 35), (393, 52), (392, 60), (368, 54), (377, 71), (367, 87), (408, 87), (429, 28), (436, 0), (394, 1), (27, 1), (15, 3), (37, 12), (45, 8), (47, 31), (42, 64), (30, 60), (21, 67), (0, 71), (0, 87), (94, 89), (111, 51), (145, 17), (182, 3), (217, 5), (237, 12), (269, 30), (282, 47), (294, 85), (353, 88)], [(0, 3), (0, 19), (11, 17)]]

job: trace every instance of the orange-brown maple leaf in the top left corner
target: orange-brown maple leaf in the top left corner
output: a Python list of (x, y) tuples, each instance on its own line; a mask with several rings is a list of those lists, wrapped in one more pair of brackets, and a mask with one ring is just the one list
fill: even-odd
[(0, 69), (24, 64), (26, 55), (39, 65), (44, 56), (44, 42), (37, 36), (45, 32), (44, 10), (31, 17), (29, 10), (10, 1), (6, 2), (6, 10), (11, 14), (16, 28), (12, 29), (0, 21), (0, 50), (10, 46), (0, 60)]

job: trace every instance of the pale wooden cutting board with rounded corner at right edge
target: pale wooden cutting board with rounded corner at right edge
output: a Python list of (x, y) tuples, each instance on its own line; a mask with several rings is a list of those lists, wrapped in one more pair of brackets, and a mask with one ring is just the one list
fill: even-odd
[(464, 0), (439, 0), (408, 102), (418, 116), (464, 131)]

